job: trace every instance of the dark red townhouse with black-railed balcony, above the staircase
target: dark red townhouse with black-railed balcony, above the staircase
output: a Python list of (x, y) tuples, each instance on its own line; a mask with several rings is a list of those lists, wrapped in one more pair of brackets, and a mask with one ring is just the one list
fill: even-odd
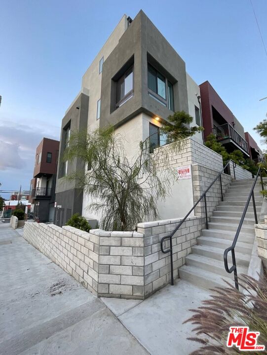
[(249, 158), (249, 146), (241, 123), (208, 81), (203, 82), (199, 87), (204, 140), (206, 141), (207, 136), (212, 133), (229, 153), (239, 149), (245, 158)]

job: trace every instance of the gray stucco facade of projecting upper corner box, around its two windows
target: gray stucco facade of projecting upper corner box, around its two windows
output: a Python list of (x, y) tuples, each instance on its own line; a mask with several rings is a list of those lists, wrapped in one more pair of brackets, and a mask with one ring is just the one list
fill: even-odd
[[(115, 81), (132, 58), (134, 96), (114, 110)], [(174, 84), (175, 110), (188, 112), (185, 62), (141, 10), (103, 64), (100, 127), (109, 124), (119, 126), (140, 112), (164, 119), (173, 114), (173, 111), (149, 96), (148, 60)]]

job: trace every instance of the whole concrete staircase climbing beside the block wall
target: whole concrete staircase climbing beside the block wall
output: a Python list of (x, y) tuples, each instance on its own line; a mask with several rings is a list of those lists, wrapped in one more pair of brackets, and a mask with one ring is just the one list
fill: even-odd
[[(209, 229), (203, 229), (197, 238), (197, 244), (192, 247), (192, 253), (186, 256), (186, 264), (179, 269), (181, 279), (202, 288), (226, 285), (223, 279), (233, 284), (233, 273), (228, 274), (224, 267), (224, 250), (231, 246), (237, 226), (243, 213), (248, 194), (254, 179), (233, 181), (224, 195), (224, 201), (219, 202), (216, 211), (209, 217)], [(254, 188), (255, 203), (259, 216), (263, 197), (257, 183)], [(254, 212), (252, 200), (241, 228), (235, 247), (237, 273), (247, 274), (255, 239)], [(229, 253), (229, 267), (231, 253)]]

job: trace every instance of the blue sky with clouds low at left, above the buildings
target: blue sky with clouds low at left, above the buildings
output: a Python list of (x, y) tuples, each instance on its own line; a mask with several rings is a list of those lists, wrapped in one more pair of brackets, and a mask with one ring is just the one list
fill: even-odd
[[(267, 45), (267, 1), (252, 1)], [(260, 144), (267, 56), (250, 0), (0, 0), (0, 189), (29, 189), (36, 146), (59, 139), (82, 74), (122, 15), (141, 8)]]

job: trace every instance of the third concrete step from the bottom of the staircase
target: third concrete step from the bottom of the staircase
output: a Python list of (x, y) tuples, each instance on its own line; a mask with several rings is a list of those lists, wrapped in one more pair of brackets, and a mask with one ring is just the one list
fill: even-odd
[[(229, 245), (230, 247), (230, 245)], [(216, 259), (221, 261), (224, 264), (224, 251), (225, 249), (221, 248), (214, 248), (210, 246), (203, 246), (203, 245), (194, 245), (192, 246), (192, 253), (197, 254), (197, 255), (202, 255), (211, 259)], [(249, 266), (250, 262), (250, 257), (251, 255), (244, 254), (244, 253), (235, 253), (235, 260), (236, 260), (236, 265), (240, 266)], [(228, 253), (228, 262), (229, 262), (229, 267), (232, 265), (231, 261), (231, 253)]]

